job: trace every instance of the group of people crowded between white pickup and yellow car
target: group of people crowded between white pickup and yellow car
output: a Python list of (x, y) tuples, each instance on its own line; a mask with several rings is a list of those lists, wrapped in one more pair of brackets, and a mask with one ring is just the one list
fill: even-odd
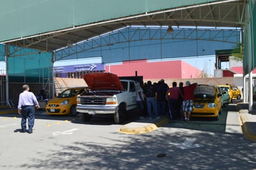
[(152, 113), (154, 113), (155, 119), (159, 119), (159, 115), (168, 115), (170, 119), (181, 118), (188, 122), (193, 110), (196, 84), (186, 81), (185, 87), (182, 82), (177, 87), (177, 83), (173, 82), (172, 87), (169, 88), (163, 79), (155, 84), (147, 81), (143, 87), (138, 83), (137, 102), (140, 113), (148, 114), (149, 119), (152, 119)]

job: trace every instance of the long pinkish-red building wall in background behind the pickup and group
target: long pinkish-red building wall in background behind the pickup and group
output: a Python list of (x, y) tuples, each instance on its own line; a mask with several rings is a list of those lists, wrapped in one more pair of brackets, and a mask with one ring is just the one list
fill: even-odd
[(144, 79), (199, 78), (201, 70), (185, 61), (125, 61), (121, 65), (105, 66), (106, 72), (118, 76), (143, 76)]

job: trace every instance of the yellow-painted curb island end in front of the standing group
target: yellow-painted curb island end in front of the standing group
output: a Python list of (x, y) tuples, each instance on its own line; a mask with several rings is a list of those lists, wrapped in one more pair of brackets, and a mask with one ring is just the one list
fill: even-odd
[(156, 123), (139, 123), (132, 122), (124, 125), (119, 129), (119, 132), (128, 133), (128, 134), (140, 134), (140, 133), (149, 133), (153, 130), (156, 130), (157, 127), (162, 126), (165, 123), (168, 123), (169, 119), (160, 119), (160, 121)]

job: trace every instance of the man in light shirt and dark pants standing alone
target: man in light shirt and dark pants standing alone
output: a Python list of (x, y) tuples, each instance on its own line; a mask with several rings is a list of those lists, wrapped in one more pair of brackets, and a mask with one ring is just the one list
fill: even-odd
[(40, 108), (39, 102), (33, 92), (29, 91), (29, 85), (24, 84), (22, 86), (23, 92), (19, 95), (18, 113), (21, 114), (21, 132), (24, 133), (27, 130), (27, 119), (29, 125), (29, 133), (33, 132), (35, 122), (35, 107)]

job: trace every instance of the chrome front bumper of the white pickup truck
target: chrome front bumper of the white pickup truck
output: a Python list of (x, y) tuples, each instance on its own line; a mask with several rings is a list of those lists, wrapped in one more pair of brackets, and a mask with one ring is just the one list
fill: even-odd
[(90, 115), (94, 115), (94, 114), (115, 114), (118, 112), (119, 107), (118, 106), (88, 106), (86, 105), (77, 105), (76, 106), (76, 112), (80, 112), (80, 113), (86, 113), (86, 114), (90, 114)]

